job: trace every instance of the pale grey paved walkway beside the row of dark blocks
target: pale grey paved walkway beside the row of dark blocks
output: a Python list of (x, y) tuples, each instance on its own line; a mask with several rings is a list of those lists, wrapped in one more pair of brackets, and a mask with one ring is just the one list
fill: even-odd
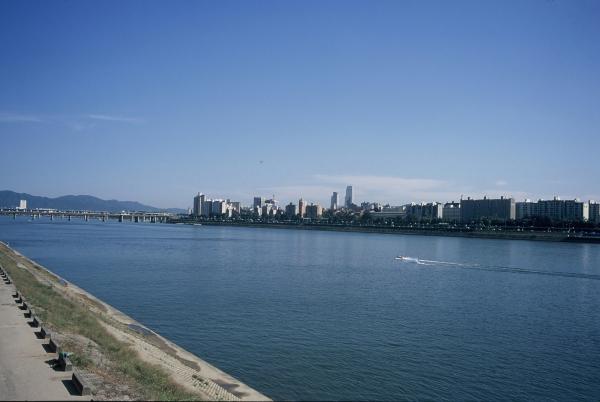
[(0, 400), (89, 400), (71, 395), (71, 372), (46, 363), (56, 353), (46, 353), (47, 341), (35, 336), (38, 329), (29, 326), (14, 291), (0, 281)]

